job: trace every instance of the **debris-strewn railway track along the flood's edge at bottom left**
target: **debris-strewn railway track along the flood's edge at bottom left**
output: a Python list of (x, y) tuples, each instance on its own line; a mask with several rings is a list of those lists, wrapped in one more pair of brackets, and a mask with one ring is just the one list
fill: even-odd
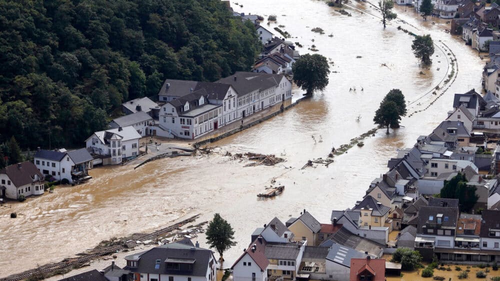
[[(135, 238), (137, 240), (148, 240), (148, 239), (156, 238), (156, 237), (161, 236), (163, 234), (172, 232), (176, 228), (195, 220), (198, 216), (199, 216), (199, 214), (193, 215), (193, 216), (186, 218), (182, 221), (171, 224), (165, 228), (161, 228), (161, 229), (156, 230), (152, 233), (143, 234), (143, 235), (140, 235), (140, 236), (135, 237)], [(75, 257), (75, 258), (72, 258), (72, 259), (69, 259), (66, 261), (60, 261), (60, 262), (57, 262), (57, 263), (52, 264), (52, 265), (47, 266), (47, 267), (38, 267), (37, 269), (30, 270), (29, 272), (11, 275), (11, 276), (8, 276), (6, 278), (1, 278), (0, 280), (9, 280), (9, 281), (23, 280), (23, 279), (26, 279), (32, 275), (36, 275), (36, 274), (40, 274), (40, 273), (41, 274), (49, 273), (49, 272), (53, 272), (57, 269), (63, 269), (63, 268), (66, 268), (66, 267), (69, 267), (69, 266), (72, 266), (75, 264), (85, 263), (85, 262), (88, 262), (90, 260), (96, 259), (99, 256), (108, 255), (108, 254), (111, 254), (113, 252), (123, 250), (125, 248), (126, 248), (125, 245), (115, 245), (115, 246), (107, 247), (107, 248), (102, 249), (102, 250), (95, 252), (95, 253), (87, 254), (87, 255), (81, 256), (81, 257)]]

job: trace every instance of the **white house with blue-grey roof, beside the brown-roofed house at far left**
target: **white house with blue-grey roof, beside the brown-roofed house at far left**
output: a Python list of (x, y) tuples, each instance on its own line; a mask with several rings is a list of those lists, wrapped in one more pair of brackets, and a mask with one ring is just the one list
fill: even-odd
[(53, 180), (65, 178), (72, 183), (74, 177), (85, 175), (92, 168), (92, 160), (86, 148), (72, 151), (38, 149), (33, 162), (44, 176)]

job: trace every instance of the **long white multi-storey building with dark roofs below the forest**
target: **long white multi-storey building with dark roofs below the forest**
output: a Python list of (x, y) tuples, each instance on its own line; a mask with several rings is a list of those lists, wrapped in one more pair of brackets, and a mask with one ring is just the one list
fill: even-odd
[(167, 81), (158, 95), (169, 101), (159, 110), (159, 124), (150, 128), (166, 137), (194, 139), (291, 98), (291, 82), (281, 74), (236, 72), (213, 83)]

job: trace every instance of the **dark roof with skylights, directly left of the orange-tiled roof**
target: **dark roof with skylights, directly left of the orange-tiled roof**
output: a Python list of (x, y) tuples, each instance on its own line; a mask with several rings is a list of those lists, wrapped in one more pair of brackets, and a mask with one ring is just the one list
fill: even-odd
[[(418, 209), (418, 225), (417, 233), (423, 233), (423, 226), (427, 223), (435, 224), (437, 221), (437, 214), (442, 214), (443, 219), (441, 220), (441, 226), (448, 226), (455, 228), (456, 221), (458, 219), (458, 208), (457, 207), (436, 207), (436, 206), (421, 206)], [(444, 217), (447, 216), (446, 220)], [(432, 219), (430, 219), (432, 217)]]

